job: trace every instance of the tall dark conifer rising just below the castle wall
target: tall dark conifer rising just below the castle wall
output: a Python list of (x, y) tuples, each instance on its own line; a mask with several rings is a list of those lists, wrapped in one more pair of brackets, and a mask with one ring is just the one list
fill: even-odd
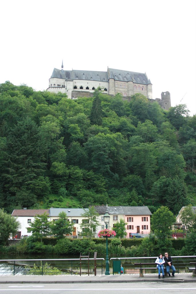
[(97, 88), (94, 91), (94, 99), (93, 99), (93, 105), (91, 109), (91, 115), (90, 115), (90, 121), (92, 125), (98, 125), (100, 126), (102, 124), (102, 118), (103, 118), (103, 111), (101, 107), (101, 100), (100, 100), (100, 88)]

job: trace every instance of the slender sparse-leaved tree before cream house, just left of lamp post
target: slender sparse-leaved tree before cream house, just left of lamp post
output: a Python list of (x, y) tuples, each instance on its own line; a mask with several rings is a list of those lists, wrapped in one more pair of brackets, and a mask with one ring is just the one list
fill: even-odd
[(89, 208), (84, 211), (85, 212), (81, 216), (85, 217), (85, 219), (82, 220), (80, 225), (82, 235), (92, 238), (96, 232), (96, 228), (100, 225), (98, 220), (99, 214), (96, 212), (94, 206), (89, 206)]

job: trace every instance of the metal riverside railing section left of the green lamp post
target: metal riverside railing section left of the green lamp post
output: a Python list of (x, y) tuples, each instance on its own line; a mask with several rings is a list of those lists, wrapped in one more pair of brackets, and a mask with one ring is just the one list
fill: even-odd
[[(1, 259), (0, 275), (103, 274), (104, 258)], [(82, 265), (82, 266), (81, 266)]]

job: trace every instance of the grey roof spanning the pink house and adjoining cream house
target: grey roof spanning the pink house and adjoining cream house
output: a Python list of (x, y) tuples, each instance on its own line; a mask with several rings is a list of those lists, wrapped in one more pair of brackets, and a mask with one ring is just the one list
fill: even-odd
[(148, 206), (106, 206), (98, 205), (95, 209), (100, 214), (105, 214), (108, 208), (109, 214), (125, 214), (125, 215), (152, 215)]

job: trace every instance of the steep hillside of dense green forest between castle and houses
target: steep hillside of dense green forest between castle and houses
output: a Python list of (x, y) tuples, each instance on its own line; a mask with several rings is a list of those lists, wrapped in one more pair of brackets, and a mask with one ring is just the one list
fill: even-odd
[[(145, 96), (123, 101), (0, 84), (0, 208), (196, 206), (196, 116)], [(57, 204), (51, 201), (56, 195)]]

